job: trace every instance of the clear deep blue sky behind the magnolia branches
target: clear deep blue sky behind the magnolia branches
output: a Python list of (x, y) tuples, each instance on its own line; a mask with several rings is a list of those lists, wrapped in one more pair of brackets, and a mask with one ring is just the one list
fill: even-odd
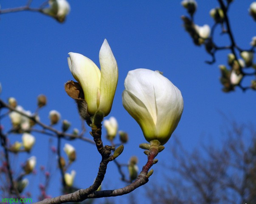
[[(242, 48), (250, 48), (249, 43), (255, 35), (255, 22), (248, 15), (252, 2), (236, 0), (229, 11), (235, 40)], [(24, 0), (0, 0), (1, 8), (23, 6), (25, 3)], [(34, 1), (32, 6), (37, 7), (40, 3)], [(195, 22), (198, 25), (213, 25), (209, 11), (218, 6), (217, 1), (206, 3), (198, 0), (197, 3)], [(98, 53), (106, 38), (119, 69), (118, 87), (108, 117), (115, 116), (119, 129), (129, 134), (129, 143), (125, 145), (118, 161), (127, 163), (130, 156), (136, 155), (140, 169), (146, 162), (143, 150), (138, 148), (140, 143), (145, 142), (142, 131), (122, 106), (121, 93), (129, 70), (160, 70), (180, 89), (184, 111), (172, 137), (178, 137), (188, 150), (192, 151), (202, 142), (214, 143), (216, 146), (220, 144), (223, 138), (219, 128), (225, 123), (220, 112), (231, 120), (255, 124), (255, 93), (251, 90), (243, 93), (240, 89), (228, 94), (221, 91), (217, 66), (226, 64), (228, 52), (217, 53), (217, 63), (214, 65), (205, 64), (204, 61), (211, 58), (203, 47), (195, 47), (184, 31), (180, 16), (186, 14), (186, 10), (179, 0), (70, 0), (70, 6), (71, 12), (63, 24), (42, 14), (27, 11), (0, 16), (2, 99), (7, 100), (13, 96), (24, 109), (33, 112), (37, 95), (45, 94), (48, 105), (40, 111), (41, 121), (48, 123), (48, 112), (56, 109), (62, 119), (72, 123), (71, 129), (80, 129), (76, 105), (64, 90), (65, 82), (74, 80), (68, 69), (68, 53), (81, 53), (99, 66)], [(219, 31), (217, 29), (216, 33)], [(228, 45), (225, 43), (228, 39), (226, 36), (217, 35), (215, 39), (219, 45)], [(3, 124), (6, 130), (10, 127), (8, 119)], [(37, 143), (31, 154), (38, 157), (39, 169), (39, 164), (46, 165), (45, 152), (48, 151), (49, 137), (34, 135)], [(88, 131), (85, 135), (91, 137)], [(20, 136), (12, 137), (11, 140), (20, 140)], [(169, 162), (171, 158), (168, 149), (172, 139), (166, 143), (166, 150), (158, 155), (159, 163), (153, 167), (155, 173), (147, 185), (153, 184), (154, 179), (163, 179), (161, 164)], [(55, 139), (53, 144), (56, 144)], [(93, 145), (80, 141), (71, 144), (76, 147), (78, 154), (77, 161), (70, 168), (77, 172), (75, 185), (88, 187), (96, 177), (100, 155)], [(108, 144), (105, 139), (104, 144)], [(26, 158), (28, 156), (25, 155)], [(119, 177), (114, 163), (110, 163), (103, 189), (123, 187), (125, 184), (119, 181)], [(51, 193), (48, 192), (51, 196), (59, 195), (59, 180), (60, 175), (56, 171), (53, 178), (55, 183), (50, 187)], [(33, 178), (28, 187), (35, 195), (38, 193), (34, 190), (38, 188), (37, 184), (38, 179)]]

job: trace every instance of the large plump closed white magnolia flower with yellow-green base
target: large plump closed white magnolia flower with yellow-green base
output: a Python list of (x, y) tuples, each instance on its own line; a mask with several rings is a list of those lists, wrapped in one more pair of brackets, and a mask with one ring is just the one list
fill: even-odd
[(129, 71), (124, 81), (123, 106), (138, 122), (148, 142), (165, 144), (183, 112), (180, 90), (159, 71)]

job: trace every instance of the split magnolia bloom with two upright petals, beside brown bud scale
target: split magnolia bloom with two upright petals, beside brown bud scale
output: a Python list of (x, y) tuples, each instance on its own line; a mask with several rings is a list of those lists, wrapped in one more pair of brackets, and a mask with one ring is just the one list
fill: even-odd
[(110, 46), (105, 39), (99, 51), (101, 70), (89, 58), (79, 53), (68, 53), (68, 66), (73, 77), (81, 85), (88, 113), (101, 110), (110, 113), (118, 81), (118, 67)]

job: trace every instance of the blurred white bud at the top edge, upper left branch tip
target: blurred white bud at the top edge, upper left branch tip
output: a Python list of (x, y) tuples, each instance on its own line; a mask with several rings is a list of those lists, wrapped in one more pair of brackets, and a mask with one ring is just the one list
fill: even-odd
[(49, 0), (49, 8), (44, 8), (42, 11), (57, 21), (64, 22), (66, 15), (70, 11), (70, 6), (66, 0)]

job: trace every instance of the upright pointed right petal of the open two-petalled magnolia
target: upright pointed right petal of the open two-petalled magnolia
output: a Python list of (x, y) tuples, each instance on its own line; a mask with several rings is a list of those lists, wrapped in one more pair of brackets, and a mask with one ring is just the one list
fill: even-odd
[(111, 110), (118, 81), (118, 67), (110, 46), (105, 39), (99, 51), (101, 65), (100, 101), (98, 109), (107, 116)]

